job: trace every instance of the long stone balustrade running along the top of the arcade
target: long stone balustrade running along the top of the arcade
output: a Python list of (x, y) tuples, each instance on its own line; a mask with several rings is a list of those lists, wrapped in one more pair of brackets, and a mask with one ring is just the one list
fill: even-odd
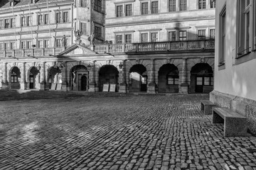
[[(141, 42), (132, 44), (95, 45), (95, 52), (164, 52), (184, 50), (214, 50), (215, 40), (186, 40), (174, 42)], [(63, 52), (63, 48), (41, 48), (26, 50), (0, 50), (0, 57), (50, 56)], [(74, 52), (70, 52), (74, 54)]]

